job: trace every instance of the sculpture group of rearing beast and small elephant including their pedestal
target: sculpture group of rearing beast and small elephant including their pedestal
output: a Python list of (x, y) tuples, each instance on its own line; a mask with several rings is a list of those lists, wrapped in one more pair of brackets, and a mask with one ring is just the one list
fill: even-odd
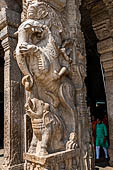
[[(66, 0), (24, 0), (23, 23), (17, 32), (16, 60), (24, 75), (25, 109), (33, 129), (31, 146), (24, 156), (30, 170), (79, 169), (75, 80), (77, 76), (78, 91), (82, 91), (85, 63), (81, 52), (74, 49), (75, 30), (68, 26), (66, 14), (62, 15), (66, 3)], [(79, 16), (78, 10), (77, 13)], [(77, 70), (73, 74), (74, 66)], [(65, 159), (58, 162), (61, 155)], [(50, 161), (49, 168), (46, 161)]]

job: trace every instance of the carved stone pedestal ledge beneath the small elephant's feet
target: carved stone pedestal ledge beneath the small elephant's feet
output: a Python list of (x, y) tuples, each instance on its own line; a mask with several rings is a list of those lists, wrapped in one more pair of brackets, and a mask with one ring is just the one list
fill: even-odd
[(76, 157), (79, 157), (79, 153), (79, 149), (76, 151), (68, 150), (45, 157), (41, 156), (40, 158), (27, 153), (24, 154), (24, 158), (28, 160), (27, 170), (80, 170), (80, 164), (76, 161)]

